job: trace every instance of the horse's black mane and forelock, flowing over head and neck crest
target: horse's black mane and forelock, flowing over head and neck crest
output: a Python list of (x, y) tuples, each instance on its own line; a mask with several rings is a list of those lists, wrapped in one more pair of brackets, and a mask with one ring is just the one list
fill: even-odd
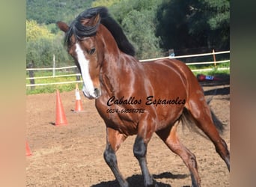
[[(98, 22), (97, 25), (85, 27), (80, 22), (81, 19), (91, 18), (92, 16), (96, 16), (98, 13), (100, 14), (100, 22)], [(109, 15), (106, 7), (92, 7), (80, 13), (79, 16), (77, 16), (76, 19), (74, 19), (73, 22), (70, 24), (70, 29), (69, 31), (67, 31), (65, 37), (65, 43), (67, 45), (70, 45), (70, 37), (73, 34), (78, 39), (82, 37), (94, 36), (97, 33), (97, 28), (100, 23), (108, 28), (112, 36), (115, 38), (115, 41), (118, 44), (118, 48), (122, 52), (132, 56), (135, 55), (134, 47), (131, 43), (129, 43), (129, 40), (124, 35), (124, 31), (122, 30), (121, 26), (118, 25), (115, 19), (113, 19), (112, 16)]]

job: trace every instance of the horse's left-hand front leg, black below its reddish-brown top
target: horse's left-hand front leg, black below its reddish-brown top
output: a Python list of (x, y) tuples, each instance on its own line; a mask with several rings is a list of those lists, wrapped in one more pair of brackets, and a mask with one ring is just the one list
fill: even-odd
[(115, 154), (118, 148), (121, 146), (121, 143), (126, 139), (126, 137), (120, 134), (115, 129), (107, 128), (106, 131), (107, 138), (106, 150), (104, 151), (104, 159), (109, 165), (109, 168), (111, 168), (116, 180), (118, 180), (119, 185), (121, 187), (128, 187), (129, 184), (126, 180), (124, 180), (124, 177), (118, 169), (118, 161)]

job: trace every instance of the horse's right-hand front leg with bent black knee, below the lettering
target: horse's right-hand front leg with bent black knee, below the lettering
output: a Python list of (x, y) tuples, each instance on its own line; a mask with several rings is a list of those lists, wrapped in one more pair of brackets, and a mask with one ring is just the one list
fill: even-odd
[(150, 119), (143, 120), (138, 126), (138, 135), (135, 138), (133, 146), (133, 153), (136, 159), (138, 159), (139, 165), (141, 166), (142, 175), (144, 177), (144, 186), (157, 186), (154, 183), (153, 177), (147, 168), (147, 143), (150, 141), (151, 136), (154, 132), (154, 125)]

